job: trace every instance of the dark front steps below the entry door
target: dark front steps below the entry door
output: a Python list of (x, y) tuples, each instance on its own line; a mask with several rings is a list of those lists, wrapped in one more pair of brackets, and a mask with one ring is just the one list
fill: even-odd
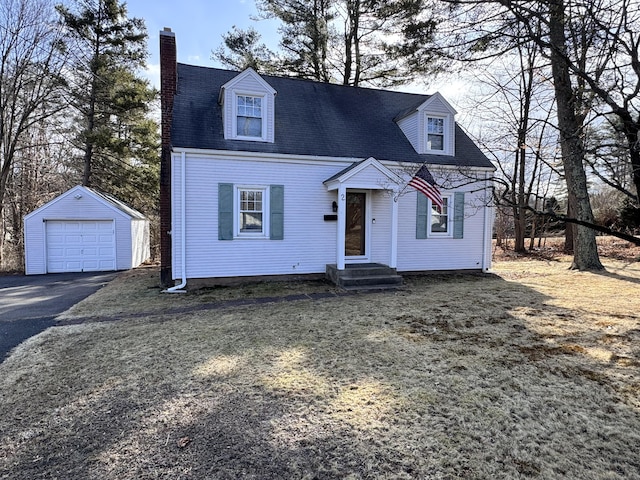
[(338, 270), (335, 264), (327, 265), (327, 277), (345, 290), (387, 290), (402, 286), (402, 277), (395, 268), (380, 263), (358, 263)]

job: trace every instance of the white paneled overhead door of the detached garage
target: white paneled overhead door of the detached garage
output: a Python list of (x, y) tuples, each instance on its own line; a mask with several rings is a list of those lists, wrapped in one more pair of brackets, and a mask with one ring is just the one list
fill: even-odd
[(47, 272), (116, 269), (116, 236), (111, 220), (47, 221)]

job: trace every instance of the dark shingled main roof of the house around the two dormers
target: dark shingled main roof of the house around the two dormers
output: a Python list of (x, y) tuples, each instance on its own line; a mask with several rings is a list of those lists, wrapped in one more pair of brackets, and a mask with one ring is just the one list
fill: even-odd
[(456, 125), (456, 155), (419, 155), (395, 123), (428, 95), (262, 75), (275, 98), (275, 143), (225, 140), (220, 88), (239, 72), (178, 64), (173, 147), (368, 158), (440, 165), (493, 165)]

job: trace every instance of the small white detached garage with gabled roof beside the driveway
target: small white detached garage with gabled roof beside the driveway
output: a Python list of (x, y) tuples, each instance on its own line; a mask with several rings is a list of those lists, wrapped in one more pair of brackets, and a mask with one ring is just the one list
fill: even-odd
[(27, 275), (128, 270), (149, 258), (149, 221), (77, 186), (24, 218), (24, 248)]

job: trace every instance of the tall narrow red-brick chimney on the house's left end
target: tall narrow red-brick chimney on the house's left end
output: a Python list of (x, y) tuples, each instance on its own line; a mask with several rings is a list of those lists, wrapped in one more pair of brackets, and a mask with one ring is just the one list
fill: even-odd
[(160, 32), (160, 283), (172, 287), (171, 274), (171, 121), (178, 72), (176, 37), (170, 28)]

